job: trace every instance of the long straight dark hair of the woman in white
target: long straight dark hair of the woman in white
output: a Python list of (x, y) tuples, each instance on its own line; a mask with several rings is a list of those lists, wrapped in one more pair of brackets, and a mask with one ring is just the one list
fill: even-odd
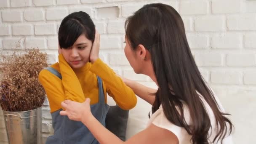
[[(197, 68), (179, 13), (170, 5), (144, 5), (126, 19), (125, 29), (134, 50), (141, 44), (151, 54), (159, 86), (152, 112), (162, 104), (167, 119), (185, 128), (192, 136), (193, 144), (209, 144), (211, 121), (200, 93), (215, 115), (218, 132), (212, 142), (222, 143), (224, 137), (232, 132), (233, 125), (225, 117), (228, 114), (221, 112), (213, 92)], [(185, 121), (184, 104), (189, 109), (192, 125)]]

